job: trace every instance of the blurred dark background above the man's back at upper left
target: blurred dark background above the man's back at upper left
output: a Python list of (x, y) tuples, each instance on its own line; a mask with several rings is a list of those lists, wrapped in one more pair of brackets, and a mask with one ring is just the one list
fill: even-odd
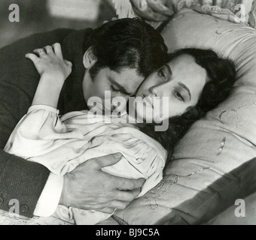
[[(84, 4), (87, 6), (87, 9), (84, 9), (84, 19), (81, 17), (76, 19), (74, 18), (75, 10), (79, 10), (81, 15), (83, 1), (86, 1)], [(99, 5), (96, 5), (97, 1)], [(65, 12), (68, 10), (68, 14), (62, 17), (50, 14), (52, 12), (50, 8), (53, 8), (51, 2), (54, 4), (60, 2), (59, 10), (63, 7)], [(20, 23), (9, 21), (11, 4), (17, 4), (20, 7)], [(79, 7), (78, 4), (80, 4)], [(69, 16), (69, 6), (73, 17)], [(90, 12), (96, 10), (97, 17), (90, 17)], [(96, 28), (102, 25), (104, 20), (111, 20), (112, 17), (115, 17), (115, 12), (111, 6), (111, 0), (0, 0), (0, 47), (30, 34), (55, 28)]]

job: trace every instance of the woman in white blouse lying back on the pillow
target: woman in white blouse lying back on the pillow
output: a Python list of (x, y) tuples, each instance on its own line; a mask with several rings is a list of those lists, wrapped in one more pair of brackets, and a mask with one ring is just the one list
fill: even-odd
[[(194, 121), (227, 98), (235, 82), (235, 68), (229, 60), (218, 58), (211, 50), (181, 49), (142, 83), (130, 114), (105, 115), (102, 121), (102, 115), (81, 111), (59, 118), (59, 93), (72, 65), (54, 46), (52, 53), (31, 60), (44, 77), (41, 74), (32, 107), (17, 124), (5, 151), (41, 163), (56, 175), (71, 172), (92, 157), (120, 151), (123, 159), (104, 171), (146, 178), (139, 196), (161, 181), (167, 154), (171, 156), (175, 143)], [(168, 129), (156, 131), (166, 120)], [(94, 224), (111, 214), (59, 206), (56, 216)]]

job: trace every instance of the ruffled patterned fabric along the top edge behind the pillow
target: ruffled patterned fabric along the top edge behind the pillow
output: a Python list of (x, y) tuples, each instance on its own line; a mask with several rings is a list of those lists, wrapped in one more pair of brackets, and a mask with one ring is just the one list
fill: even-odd
[[(130, 0), (112, 1), (119, 18), (137, 16)], [(150, 7), (163, 11), (160, 5), (165, 5), (166, 9), (169, 8), (167, 10), (168, 14), (178, 12), (187, 7), (222, 20), (229, 20), (233, 23), (245, 23), (252, 28), (256, 28), (256, 0), (138, 0), (136, 7), (141, 11), (141, 15), (145, 14), (148, 17), (153, 17), (154, 12)], [(147, 23), (154, 26), (154, 28), (161, 25), (160, 22), (155, 21), (147, 21)]]

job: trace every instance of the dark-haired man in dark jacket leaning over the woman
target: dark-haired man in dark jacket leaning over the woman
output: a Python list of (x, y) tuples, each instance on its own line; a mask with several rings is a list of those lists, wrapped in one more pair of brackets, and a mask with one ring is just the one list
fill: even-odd
[[(35, 34), (0, 49), (0, 147), (31, 105), (39, 75), (26, 53), (40, 55), (60, 43), (72, 62), (72, 74), (59, 98), (60, 114), (87, 109), (86, 101), (111, 91), (111, 98), (128, 98), (143, 79), (160, 68), (167, 57), (163, 38), (141, 20), (117, 20), (95, 30), (59, 29)], [(82, 88), (87, 91), (83, 95)], [(28, 146), (29, 147), (29, 146)], [(65, 157), (65, 156), (63, 156)], [(123, 209), (139, 194), (143, 179), (119, 178), (102, 172), (120, 154), (88, 160), (64, 178), (44, 166), (0, 151), (0, 208), (8, 211), (17, 199), (20, 214), (47, 217), (58, 204), (110, 213)], [(105, 184), (102, 184), (105, 183)]]

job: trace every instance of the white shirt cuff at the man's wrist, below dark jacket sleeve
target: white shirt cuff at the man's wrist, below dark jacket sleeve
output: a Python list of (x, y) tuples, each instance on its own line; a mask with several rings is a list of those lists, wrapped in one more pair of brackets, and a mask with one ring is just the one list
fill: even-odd
[(50, 172), (44, 190), (35, 207), (35, 216), (50, 217), (56, 211), (62, 193), (62, 187), (63, 177)]

